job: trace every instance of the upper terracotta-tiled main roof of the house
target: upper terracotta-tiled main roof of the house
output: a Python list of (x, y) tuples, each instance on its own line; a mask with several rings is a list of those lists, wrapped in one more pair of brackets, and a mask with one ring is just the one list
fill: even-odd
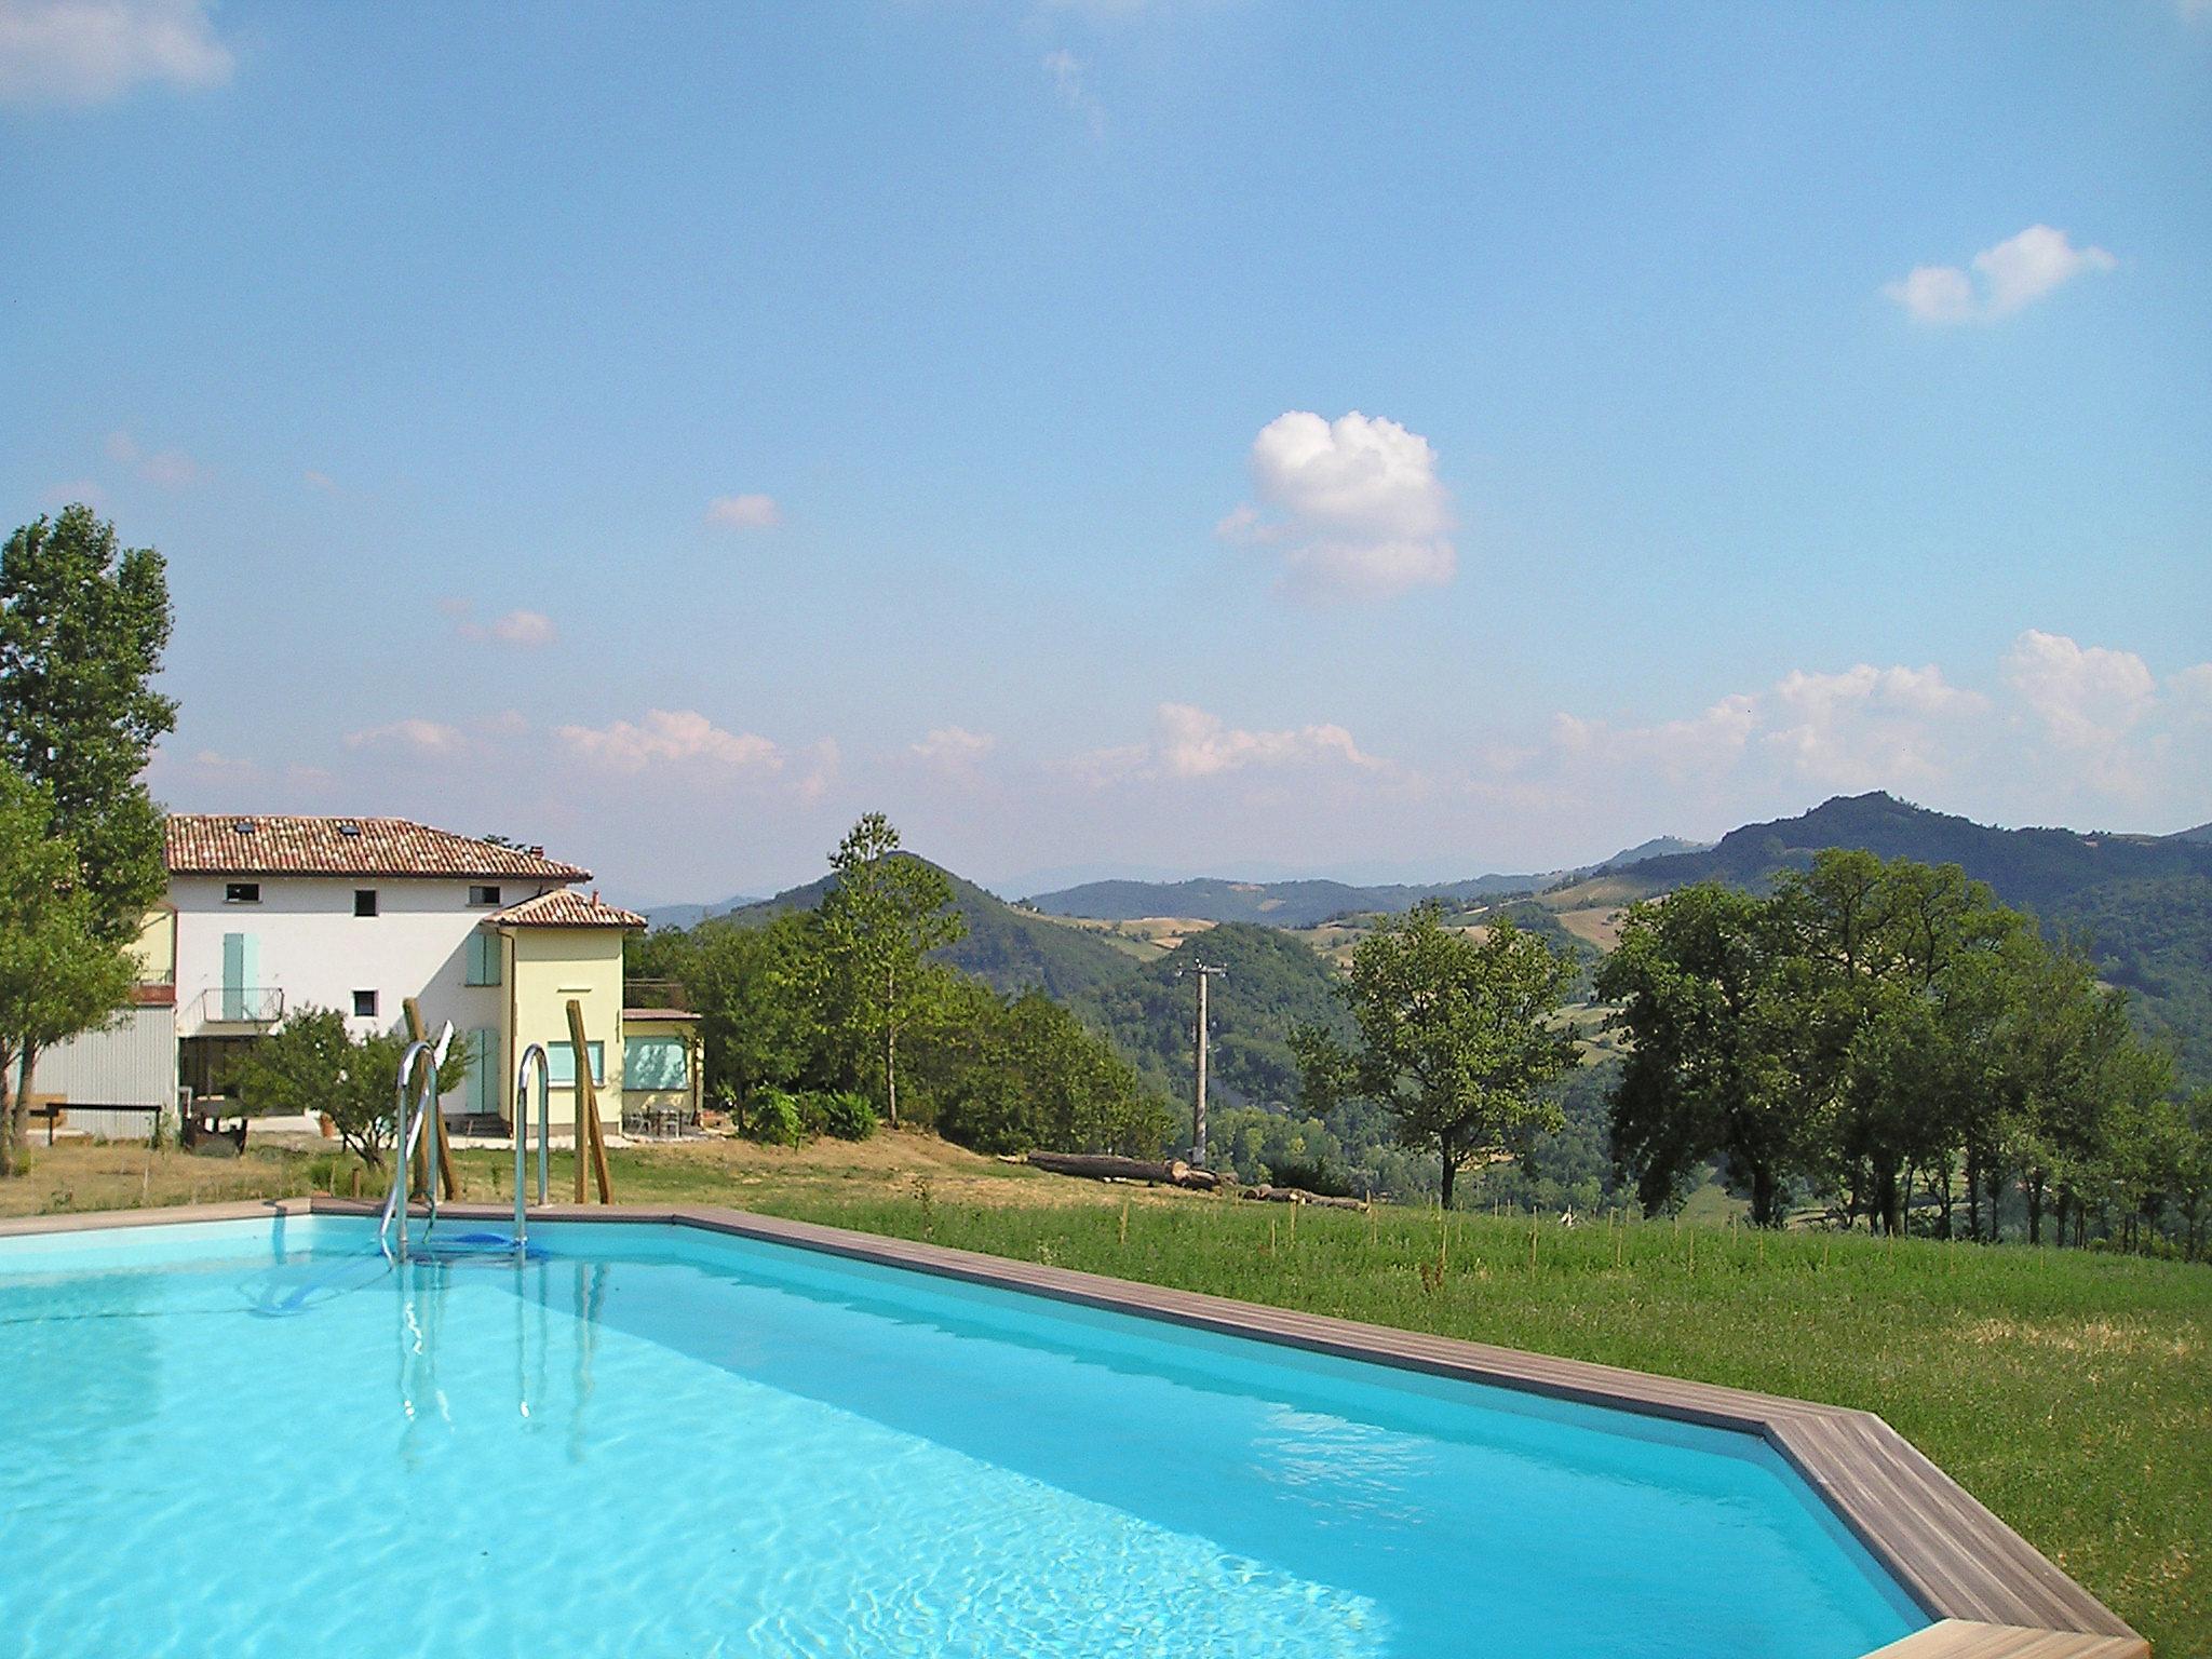
[(500, 847), (409, 818), (168, 814), (173, 876), (447, 876), (591, 880), (544, 847)]

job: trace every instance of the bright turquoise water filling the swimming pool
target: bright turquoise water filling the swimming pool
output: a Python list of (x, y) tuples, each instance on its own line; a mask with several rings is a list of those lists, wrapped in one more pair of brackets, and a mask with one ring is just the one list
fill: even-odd
[(53, 1655), (1790, 1655), (1927, 1624), (1756, 1438), (785, 1245), (0, 1241)]

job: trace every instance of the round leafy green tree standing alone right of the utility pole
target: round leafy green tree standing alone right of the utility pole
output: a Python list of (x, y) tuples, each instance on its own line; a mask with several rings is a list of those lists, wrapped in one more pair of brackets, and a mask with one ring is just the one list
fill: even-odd
[(1416, 905), (1352, 953), (1343, 998), (1356, 1044), (1301, 1033), (1303, 1104), (1347, 1088), (1383, 1104), (1405, 1146), (1440, 1157), (1449, 1210), (1469, 1161), (1564, 1121), (1544, 1091), (1577, 1064), (1557, 1018), (1573, 980), (1573, 958), (1509, 920), (1478, 940), (1447, 927), (1436, 900)]

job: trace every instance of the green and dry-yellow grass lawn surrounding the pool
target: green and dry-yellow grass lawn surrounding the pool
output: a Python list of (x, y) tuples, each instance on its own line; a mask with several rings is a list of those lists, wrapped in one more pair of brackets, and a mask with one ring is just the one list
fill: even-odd
[[(920, 1135), (611, 1161), (626, 1201), (734, 1203), (1880, 1411), (2161, 1657), (2212, 1652), (2205, 1265), (1728, 1225), (1455, 1214), (1447, 1230), (1433, 1210), (1294, 1212), (1064, 1181)], [(327, 1190), (332, 1164), (40, 1148), (24, 1181), (0, 1186), (0, 1212)], [(555, 1155), (555, 1197), (568, 1168)], [(511, 1194), (507, 1170), (465, 1152), (467, 1197)]]

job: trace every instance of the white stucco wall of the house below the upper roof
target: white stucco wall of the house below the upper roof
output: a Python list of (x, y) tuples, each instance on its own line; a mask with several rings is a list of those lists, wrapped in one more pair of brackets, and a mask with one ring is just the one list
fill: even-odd
[[(431, 1033), (442, 1020), (456, 1031), (502, 1024), (504, 987), (471, 987), (467, 942), (489, 916), (469, 905), (465, 880), (372, 876), (259, 876), (261, 902), (226, 902), (232, 878), (179, 876), (168, 885), (177, 907), (177, 1035), (243, 1033), (254, 1026), (219, 1018), (223, 991), (223, 936), (250, 933), (257, 942), (252, 982), (283, 991), (285, 1011), (338, 1009), (356, 1035), (398, 1031), (403, 998), (422, 1004)], [(239, 878), (254, 880), (254, 878)], [(354, 916), (354, 889), (374, 887), (376, 916)], [(549, 883), (500, 883), (500, 902), (513, 905)], [(376, 991), (376, 1018), (356, 1020), (354, 991)], [(449, 1097), (451, 1102), (451, 1097)]]

